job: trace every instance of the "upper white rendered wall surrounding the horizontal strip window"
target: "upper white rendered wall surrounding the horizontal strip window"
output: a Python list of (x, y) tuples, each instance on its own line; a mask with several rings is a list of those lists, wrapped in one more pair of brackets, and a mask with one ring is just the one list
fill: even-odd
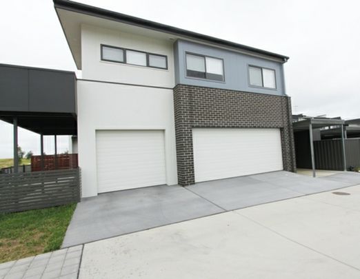
[[(168, 56), (168, 70), (101, 61), (101, 44)], [(81, 25), (82, 78), (117, 83), (174, 87), (173, 42)]]

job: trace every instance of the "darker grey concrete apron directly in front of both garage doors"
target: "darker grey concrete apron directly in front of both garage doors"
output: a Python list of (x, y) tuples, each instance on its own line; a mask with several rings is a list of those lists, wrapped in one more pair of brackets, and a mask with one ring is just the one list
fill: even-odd
[(77, 205), (62, 247), (357, 184), (360, 174), (350, 172), (325, 178), (270, 172), (100, 194)]

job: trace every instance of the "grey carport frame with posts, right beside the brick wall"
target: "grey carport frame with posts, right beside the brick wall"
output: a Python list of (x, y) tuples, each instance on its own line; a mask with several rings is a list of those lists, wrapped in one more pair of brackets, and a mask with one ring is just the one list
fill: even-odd
[[(325, 127), (340, 127), (341, 130), (341, 156), (343, 162), (343, 170), (346, 171), (346, 149), (345, 149), (345, 136), (344, 136), (344, 125), (345, 121), (338, 118), (305, 118), (301, 121), (292, 123), (294, 133), (296, 132), (306, 132), (308, 131), (310, 137), (310, 156), (311, 156), (311, 167), (312, 167), (312, 176), (316, 176), (316, 165), (315, 165), (315, 156), (314, 156), (314, 141), (313, 134), (314, 129), (320, 129)], [(296, 143), (295, 143), (296, 148)]]

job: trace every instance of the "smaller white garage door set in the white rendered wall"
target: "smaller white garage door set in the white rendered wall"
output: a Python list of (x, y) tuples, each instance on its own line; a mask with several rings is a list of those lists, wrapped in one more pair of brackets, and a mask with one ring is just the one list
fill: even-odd
[(97, 183), (99, 193), (165, 184), (163, 131), (97, 131)]

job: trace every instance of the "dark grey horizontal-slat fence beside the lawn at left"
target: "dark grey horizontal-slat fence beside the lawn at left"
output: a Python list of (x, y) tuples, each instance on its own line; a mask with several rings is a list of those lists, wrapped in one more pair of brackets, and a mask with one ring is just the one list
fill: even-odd
[(0, 174), (0, 213), (77, 203), (80, 169)]

